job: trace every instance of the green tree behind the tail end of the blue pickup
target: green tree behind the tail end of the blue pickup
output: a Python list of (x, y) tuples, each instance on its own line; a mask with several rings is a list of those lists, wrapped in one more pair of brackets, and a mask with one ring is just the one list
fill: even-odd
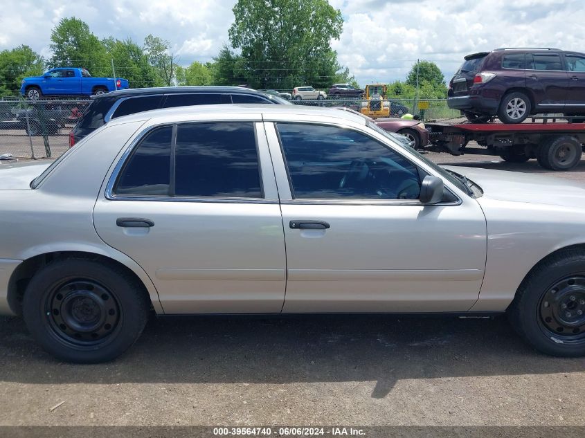
[(120, 41), (109, 37), (103, 40), (103, 44), (108, 57), (114, 60), (116, 76), (127, 79), (132, 88), (156, 86), (161, 83), (154, 67), (149, 64), (144, 49), (132, 39)]

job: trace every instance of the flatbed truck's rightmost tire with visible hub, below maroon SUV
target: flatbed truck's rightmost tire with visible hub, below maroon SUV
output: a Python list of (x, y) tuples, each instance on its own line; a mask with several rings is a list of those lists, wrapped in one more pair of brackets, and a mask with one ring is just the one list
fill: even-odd
[(583, 147), (577, 138), (560, 136), (547, 138), (537, 151), (539, 164), (548, 170), (573, 169), (583, 153)]

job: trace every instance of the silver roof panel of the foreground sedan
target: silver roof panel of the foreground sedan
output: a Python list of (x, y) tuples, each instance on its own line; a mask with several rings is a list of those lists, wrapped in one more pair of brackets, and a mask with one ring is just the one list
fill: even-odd
[(269, 117), (271, 114), (291, 116), (291, 121), (296, 120), (296, 116), (307, 116), (312, 119), (315, 116), (334, 117), (350, 122), (366, 125), (367, 119), (361, 114), (354, 114), (350, 111), (339, 111), (333, 108), (309, 107), (305, 105), (270, 105), (270, 104), (212, 104), (212, 105), (194, 105), (192, 107), (173, 107), (165, 109), (152, 109), (141, 113), (134, 113), (128, 116), (122, 116), (111, 120), (108, 125), (118, 125), (127, 122), (165, 119), (168, 120), (173, 116), (184, 118), (189, 114), (222, 114), (222, 113), (239, 113), (239, 114), (258, 114)]

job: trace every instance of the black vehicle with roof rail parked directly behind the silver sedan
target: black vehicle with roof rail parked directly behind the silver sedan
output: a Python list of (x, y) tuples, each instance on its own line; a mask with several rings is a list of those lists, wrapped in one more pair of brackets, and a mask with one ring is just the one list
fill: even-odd
[(278, 96), (240, 86), (168, 86), (112, 91), (92, 97), (91, 104), (69, 133), (69, 147), (116, 117), (151, 109), (226, 103), (291, 104)]

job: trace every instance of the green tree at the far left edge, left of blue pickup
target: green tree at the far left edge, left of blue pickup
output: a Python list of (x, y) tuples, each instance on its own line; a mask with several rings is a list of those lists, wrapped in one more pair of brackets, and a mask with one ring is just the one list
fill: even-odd
[(18, 46), (0, 52), (0, 95), (17, 95), (25, 76), (43, 73), (44, 60), (29, 46)]

